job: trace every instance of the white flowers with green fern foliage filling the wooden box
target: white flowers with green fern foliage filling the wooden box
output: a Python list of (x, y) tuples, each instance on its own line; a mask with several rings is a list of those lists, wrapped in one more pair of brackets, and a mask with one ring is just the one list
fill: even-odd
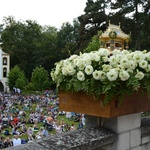
[(72, 55), (56, 63), (51, 77), (60, 90), (105, 95), (104, 105), (116, 96), (122, 102), (125, 94), (139, 89), (150, 95), (150, 52), (100, 48)]

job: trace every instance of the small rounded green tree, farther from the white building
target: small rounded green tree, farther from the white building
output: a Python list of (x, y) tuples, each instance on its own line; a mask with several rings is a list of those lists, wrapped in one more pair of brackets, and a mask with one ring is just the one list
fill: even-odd
[(34, 90), (42, 91), (49, 88), (49, 78), (48, 72), (42, 67), (37, 66), (31, 76), (31, 84), (33, 85)]

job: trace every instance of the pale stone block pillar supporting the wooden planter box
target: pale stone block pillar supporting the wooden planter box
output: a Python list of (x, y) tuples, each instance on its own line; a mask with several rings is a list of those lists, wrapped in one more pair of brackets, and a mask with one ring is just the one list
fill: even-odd
[(118, 134), (118, 140), (105, 150), (141, 150), (141, 113), (102, 118), (101, 125)]

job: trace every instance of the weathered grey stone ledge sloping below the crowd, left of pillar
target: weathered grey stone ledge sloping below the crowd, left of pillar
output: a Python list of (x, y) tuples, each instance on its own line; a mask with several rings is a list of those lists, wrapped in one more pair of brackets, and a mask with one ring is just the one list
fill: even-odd
[(105, 128), (85, 128), (39, 139), (34, 143), (7, 150), (91, 150), (117, 140), (117, 134)]

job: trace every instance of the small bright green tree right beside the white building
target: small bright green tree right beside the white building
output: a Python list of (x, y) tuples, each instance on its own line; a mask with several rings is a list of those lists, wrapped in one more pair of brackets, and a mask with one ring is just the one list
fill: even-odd
[(13, 87), (23, 90), (27, 85), (27, 78), (24, 72), (16, 65), (8, 74), (8, 86), (12, 90)]

